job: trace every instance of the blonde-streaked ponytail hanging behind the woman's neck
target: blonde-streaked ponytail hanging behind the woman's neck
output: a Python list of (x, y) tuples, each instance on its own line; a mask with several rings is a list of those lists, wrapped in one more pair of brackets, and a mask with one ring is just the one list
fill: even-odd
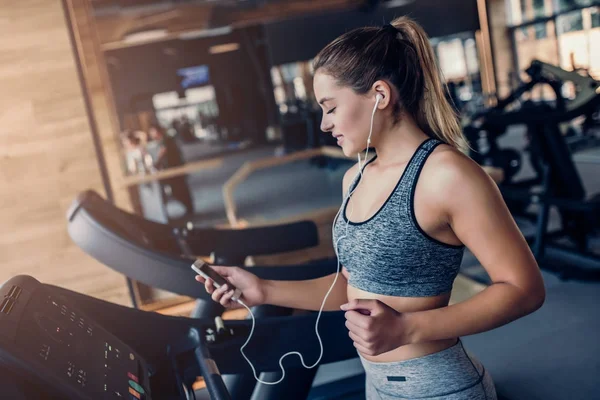
[(417, 66), (422, 71), (423, 94), (414, 118), (423, 131), (462, 152), (468, 151), (467, 140), (454, 109), (448, 102), (444, 91), (441, 73), (429, 43), (427, 34), (416, 22), (407, 17), (392, 21), (403, 40), (410, 42), (416, 50)]

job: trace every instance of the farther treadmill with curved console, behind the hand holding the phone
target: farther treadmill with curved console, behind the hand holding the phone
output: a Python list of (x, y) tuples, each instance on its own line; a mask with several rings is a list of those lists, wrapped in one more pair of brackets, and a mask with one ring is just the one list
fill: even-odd
[[(72, 240), (98, 261), (152, 287), (199, 299), (192, 315), (196, 318), (214, 318), (223, 312), (223, 307), (207, 297), (204, 287), (194, 279), (190, 266), (196, 256), (212, 254), (216, 264), (243, 265), (250, 254), (292, 251), (318, 243), (312, 221), (243, 230), (172, 227), (120, 210), (93, 191), (83, 192), (75, 199), (67, 218)], [(337, 260), (248, 270), (264, 279), (306, 280), (336, 272)], [(292, 311), (271, 305), (253, 309), (257, 320), (291, 315)], [(348, 370), (341, 374), (344, 379), (364, 374), (358, 358), (341, 367)], [(339, 368), (340, 365), (324, 366), (320, 376), (316, 376), (316, 369), (291, 368), (284, 381), (273, 386), (257, 384), (248, 374), (226, 375), (224, 380), (234, 398), (305, 399), (315, 381), (340, 378)], [(269, 372), (261, 379), (270, 382), (280, 376), (279, 372)]]

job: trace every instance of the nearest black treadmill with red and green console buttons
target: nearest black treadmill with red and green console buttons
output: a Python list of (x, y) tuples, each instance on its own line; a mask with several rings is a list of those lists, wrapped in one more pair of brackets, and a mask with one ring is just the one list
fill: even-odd
[[(228, 392), (221, 373), (252, 376), (239, 351), (249, 333), (247, 320), (165, 316), (44, 285), (27, 275), (4, 283), (0, 299), (2, 398), (199, 399), (192, 388), (201, 376), (210, 399), (242, 400)], [(317, 359), (316, 338), (306, 340), (314, 336), (315, 320), (303, 315), (257, 322), (246, 355), (259, 372), (279, 370), (280, 354), (290, 350), (290, 343), (307, 360)], [(324, 363), (356, 356), (343, 321), (340, 311), (324, 314), (319, 322)], [(297, 357), (286, 362), (287, 368), (298, 365)], [(356, 400), (364, 392), (340, 396)], [(317, 398), (331, 397), (312, 397)]]

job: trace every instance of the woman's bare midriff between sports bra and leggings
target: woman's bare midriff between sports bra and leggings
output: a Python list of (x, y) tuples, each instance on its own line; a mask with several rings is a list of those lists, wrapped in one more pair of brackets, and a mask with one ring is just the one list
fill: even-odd
[[(435, 297), (396, 297), (366, 292), (348, 285), (348, 301), (354, 299), (376, 299), (388, 305), (400, 313), (426, 311), (435, 308), (446, 307), (450, 301), (450, 293)], [(430, 342), (407, 344), (390, 350), (377, 356), (369, 356), (361, 353), (366, 360), (373, 362), (405, 361), (411, 358), (423, 357), (428, 354), (437, 353), (456, 344), (457, 338), (435, 340)]]

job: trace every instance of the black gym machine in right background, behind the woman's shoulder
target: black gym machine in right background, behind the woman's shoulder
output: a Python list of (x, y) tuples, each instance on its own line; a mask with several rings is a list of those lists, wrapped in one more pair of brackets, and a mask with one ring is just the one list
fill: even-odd
[[(543, 268), (563, 279), (599, 280), (600, 255), (590, 251), (589, 243), (600, 229), (600, 196), (585, 192), (572, 152), (600, 145), (600, 82), (537, 60), (526, 72), (529, 82), (495, 107), (474, 115), (464, 128), (472, 147), (470, 156), (481, 165), (503, 171), (499, 187), (511, 212), (536, 225), (535, 233), (527, 239)], [(555, 101), (523, 100), (524, 94), (542, 84), (550, 85)], [(563, 95), (565, 84), (571, 85), (572, 98)], [(560, 124), (576, 117), (585, 118), (583, 130), (564, 135)], [(524, 153), (499, 145), (508, 128), (516, 125), (527, 129)], [(517, 179), (524, 154), (533, 176)], [(549, 232), (552, 207), (558, 211), (561, 227)]]

